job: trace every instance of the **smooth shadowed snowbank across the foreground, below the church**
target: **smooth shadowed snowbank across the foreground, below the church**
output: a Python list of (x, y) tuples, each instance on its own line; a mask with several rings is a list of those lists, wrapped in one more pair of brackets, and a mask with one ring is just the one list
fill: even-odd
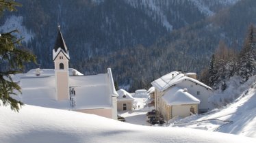
[(19, 113), (1, 106), (0, 116), (0, 142), (256, 142), (227, 133), (132, 125), (93, 114), (28, 105)]

